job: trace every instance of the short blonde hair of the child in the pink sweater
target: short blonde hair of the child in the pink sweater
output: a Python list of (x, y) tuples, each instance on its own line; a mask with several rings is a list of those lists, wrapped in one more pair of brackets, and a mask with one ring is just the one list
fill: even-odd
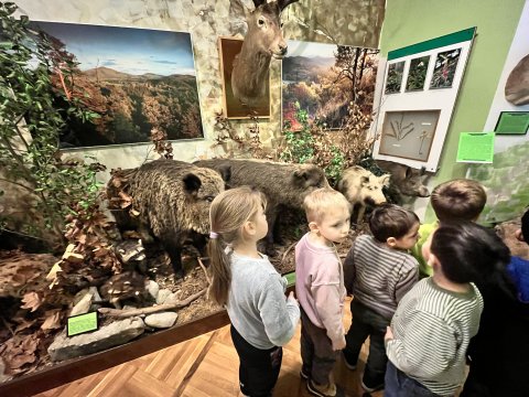
[(330, 210), (343, 208), (350, 213), (350, 203), (345, 196), (331, 187), (321, 187), (312, 191), (303, 201), (306, 219), (320, 223)]

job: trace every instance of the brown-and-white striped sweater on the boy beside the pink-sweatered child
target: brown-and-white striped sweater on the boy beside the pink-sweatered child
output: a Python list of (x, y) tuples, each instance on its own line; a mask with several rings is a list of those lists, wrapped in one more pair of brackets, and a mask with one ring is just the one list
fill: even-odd
[(417, 259), (373, 236), (358, 236), (344, 261), (345, 287), (355, 299), (391, 319), (400, 299), (419, 278)]

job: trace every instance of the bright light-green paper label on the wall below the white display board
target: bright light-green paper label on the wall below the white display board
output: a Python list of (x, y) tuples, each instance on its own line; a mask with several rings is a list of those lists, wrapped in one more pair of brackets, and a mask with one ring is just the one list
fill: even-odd
[(494, 132), (461, 132), (456, 162), (492, 163)]

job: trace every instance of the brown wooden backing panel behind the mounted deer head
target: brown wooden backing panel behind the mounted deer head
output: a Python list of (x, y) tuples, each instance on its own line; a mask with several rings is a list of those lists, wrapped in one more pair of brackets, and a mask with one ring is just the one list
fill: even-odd
[(241, 104), (231, 90), (231, 71), (235, 56), (242, 47), (242, 39), (218, 37), (220, 75), (223, 81), (224, 110), (227, 118), (246, 119), (251, 116), (270, 117), (270, 76), (267, 78), (267, 92), (262, 98), (251, 106)]

